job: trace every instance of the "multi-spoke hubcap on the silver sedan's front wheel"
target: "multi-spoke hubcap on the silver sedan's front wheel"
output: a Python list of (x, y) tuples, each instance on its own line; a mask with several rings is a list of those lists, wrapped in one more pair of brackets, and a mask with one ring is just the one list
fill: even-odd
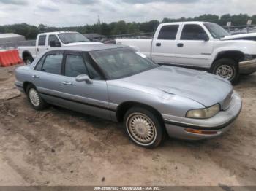
[(156, 139), (156, 127), (144, 114), (131, 114), (127, 118), (129, 136), (138, 144), (149, 145)]

